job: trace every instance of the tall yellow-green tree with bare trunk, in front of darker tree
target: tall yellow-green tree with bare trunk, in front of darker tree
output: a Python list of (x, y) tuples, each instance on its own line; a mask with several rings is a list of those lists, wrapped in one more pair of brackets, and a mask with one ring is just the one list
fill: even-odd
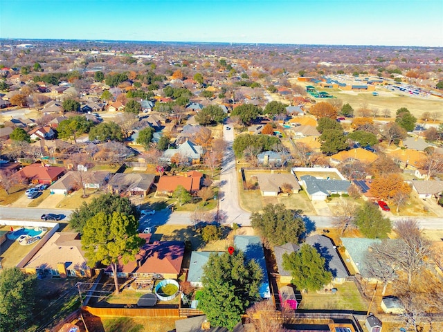
[(99, 212), (86, 221), (82, 234), (82, 249), (88, 259), (88, 266), (93, 268), (98, 262), (111, 266), (114, 275), (116, 293), (118, 288), (118, 260), (123, 264), (135, 259), (143, 243), (138, 237), (138, 221), (134, 216), (113, 212)]

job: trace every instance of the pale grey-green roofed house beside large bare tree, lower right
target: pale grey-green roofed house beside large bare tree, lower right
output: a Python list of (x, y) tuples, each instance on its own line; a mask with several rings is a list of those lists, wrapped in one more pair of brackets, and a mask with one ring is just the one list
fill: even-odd
[(359, 237), (341, 237), (341, 243), (345, 247), (345, 256), (357, 274), (368, 277), (366, 273), (366, 254), (371, 246), (381, 243), (380, 239), (365, 239)]

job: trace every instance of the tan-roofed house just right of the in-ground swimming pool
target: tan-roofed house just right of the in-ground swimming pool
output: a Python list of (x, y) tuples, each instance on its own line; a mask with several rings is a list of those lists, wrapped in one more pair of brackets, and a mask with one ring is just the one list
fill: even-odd
[(26, 273), (38, 276), (84, 277), (93, 275), (84, 257), (80, 234), (55, 232), (24, 266)]

